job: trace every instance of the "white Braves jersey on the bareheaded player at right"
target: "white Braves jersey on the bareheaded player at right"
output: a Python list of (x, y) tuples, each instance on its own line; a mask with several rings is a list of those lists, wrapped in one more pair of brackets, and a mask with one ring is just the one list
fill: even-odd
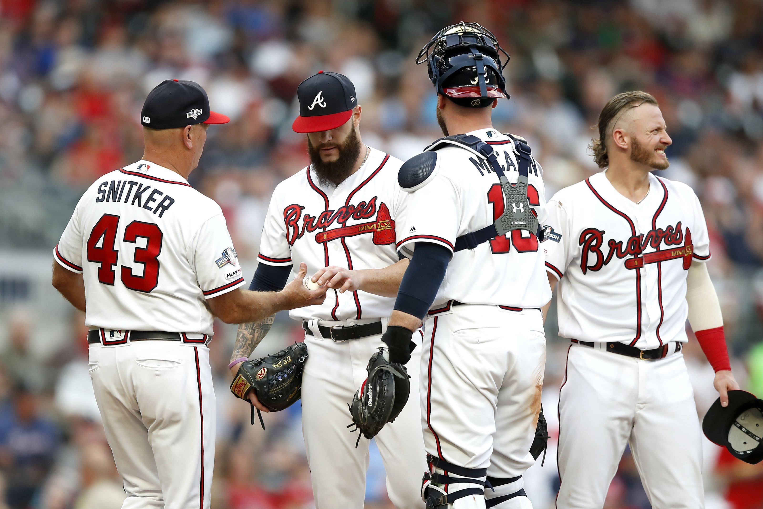
[(687, 269), (710, 258), (689, 186), (650, 173), (649, 195), (636, 205), (605, 170), (556, 193), (545, 224), (546, 267), (560, 279), (560, 336), (641, 350), (687, 340)]

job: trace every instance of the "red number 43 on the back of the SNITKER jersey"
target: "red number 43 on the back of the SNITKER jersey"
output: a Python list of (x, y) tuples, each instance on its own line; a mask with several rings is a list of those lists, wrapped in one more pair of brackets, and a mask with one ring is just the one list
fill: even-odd
[[(88, 239), (88, 261), (100, 263), (98, 281), (104, 285), (114, 285), (116, 272), (114, 266), (119, 259), (119, 251), (115, 249), (119, 216), (103, 214), (95, 224)], [(122, 266), (120, 279), (130, 290), (136, 292), (151, 292), (159, 282), (159, 260), (162, 252), (162, 230), (155, 223), (133, 221), (124, 229), (124, 242), (137, 243), (138, 237), (146, 239), (146, 247), (135, 247), (134, 263), (143, 264), (143, 275), (134, 275), (131, 267)], [(99, 241), (100, 246), (98, 246)]]

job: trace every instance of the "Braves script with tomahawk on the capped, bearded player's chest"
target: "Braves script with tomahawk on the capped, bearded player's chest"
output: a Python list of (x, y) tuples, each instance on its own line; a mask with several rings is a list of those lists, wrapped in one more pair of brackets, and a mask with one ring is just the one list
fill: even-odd
[[(297, 239), (315, 230), (330, 227), (334, 222), (344, 225), (352, 218), (356, 221), (368, 219), (376, 215), (376, 221), (368, 223), (351, 224), (341, 226), (333, 230), (321, 231), (315, 235), (317, 243), (327, 243), (343, 237), (354, 237), (362, 234), (373, 234), (373, 243), (377, 246), (385, 246), (394, 243), (394, 221), (392, 221), (389, 209), (384, 202), (376, 208), (377, 197), (371, 198), (368, 203), (360, 201), (358, 205), (343, 205), (336, 211), (323, 211), (317, 216), (302, 214), (304, 205), (289, 205), (284, 209), (284, 223), (286, 224), (286, 237), (288, 243), (293, 246)], [(301, 224), (300, 224), (301, 222)]]

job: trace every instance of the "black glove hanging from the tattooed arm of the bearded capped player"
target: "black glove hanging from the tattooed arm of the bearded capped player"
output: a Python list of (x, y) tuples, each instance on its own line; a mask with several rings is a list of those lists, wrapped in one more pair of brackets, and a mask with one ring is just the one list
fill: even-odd
[[(294, 343), (278, 353), (261, 359), (241, 362), (241, 366), (230, 384), (230, 391), (238, 398), (249, 401), (249, 392), (254, 391), (262, 406), (277, 412), (288, 408), (302, 396), (302, 370), (307, 360), (307, 345)], [(259, 424), (265, 429), (262, 414), (257, 410)], [(252, 405), (254, 424), (254, 405)]]

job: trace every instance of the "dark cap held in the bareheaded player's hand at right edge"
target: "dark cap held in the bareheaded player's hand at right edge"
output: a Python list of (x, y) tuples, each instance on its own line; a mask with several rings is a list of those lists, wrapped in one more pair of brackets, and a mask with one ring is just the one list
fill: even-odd
[(729, 406), (720, 398), (702, 420), (702, 430), (711, 442), (726, 447), (744, 462), (763, 460), (763, 400), (747, 391), (729, 391)]

